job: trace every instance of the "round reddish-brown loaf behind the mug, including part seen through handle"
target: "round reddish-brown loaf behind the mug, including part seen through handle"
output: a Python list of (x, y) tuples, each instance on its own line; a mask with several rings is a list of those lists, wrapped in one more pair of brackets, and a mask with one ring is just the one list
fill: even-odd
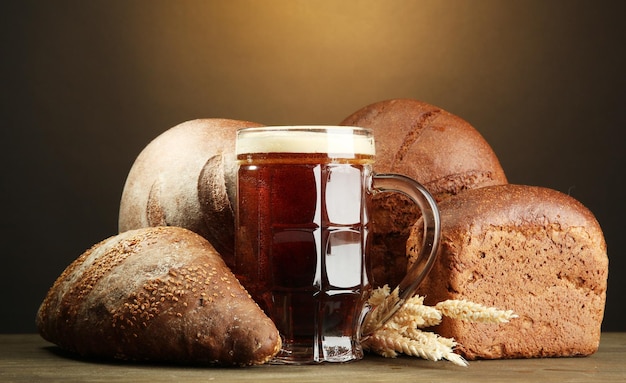
[[(400, 173), (437, 201), (467, 189), (507, 183), (493, 149), (467, 121), (434, 105), (392, 99), (367, 105), (341, 125), (371, 128), (376, 173)], [(406, 197), (384, 193), (372, 203), (371, 282), (397, 285), (406, 270), (406, 240), (419, 210)]]

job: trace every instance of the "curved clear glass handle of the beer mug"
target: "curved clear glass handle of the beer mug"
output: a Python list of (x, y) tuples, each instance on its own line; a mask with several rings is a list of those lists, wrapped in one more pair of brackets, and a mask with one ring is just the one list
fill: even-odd
[(441, 237), (439, 210), (433, 196), (417, 181), (400, 174), (375, 174), (370, 178), (369, 192), (378, 194), (396, 192), (409, 197), (418, 205), (424, 222), (422, 248), (415, 263), (405, 277), (382, 304), (372, 307), (365, 314), (362, 339), (367, 338), (382, 327), (415, 292), (432, 269)]

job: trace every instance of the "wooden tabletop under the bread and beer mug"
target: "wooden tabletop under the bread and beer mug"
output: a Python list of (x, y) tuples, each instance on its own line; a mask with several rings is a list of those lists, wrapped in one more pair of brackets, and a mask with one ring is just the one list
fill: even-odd
[(0, 382), (626, 382), (626, 333), (605, 333), (585, 358), (485, 360), (469, 367), (367, 355), (348, 364), (181, 367), (76, 359), (37, 334), (0, 334)]

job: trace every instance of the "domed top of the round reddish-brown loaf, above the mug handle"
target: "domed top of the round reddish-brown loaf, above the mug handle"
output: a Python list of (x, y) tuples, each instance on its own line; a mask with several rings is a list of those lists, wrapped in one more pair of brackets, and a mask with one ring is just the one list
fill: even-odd
[(367, 105), (340, 125), (374, 131), (377, 173), (401, 173), (443, 199), (507, 182), (487, 141), (467, 121), (435, 105), (392, 99)]

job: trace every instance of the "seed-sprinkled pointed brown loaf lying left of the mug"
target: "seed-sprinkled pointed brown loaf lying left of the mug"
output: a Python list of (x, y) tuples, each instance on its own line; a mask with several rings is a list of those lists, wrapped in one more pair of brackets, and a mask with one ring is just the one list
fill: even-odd
[(36, 322), (43, 338), (88, 357), (250, 365), (281, 347), (207, 240), (178, 227), (94, 245), (57, 279)]

